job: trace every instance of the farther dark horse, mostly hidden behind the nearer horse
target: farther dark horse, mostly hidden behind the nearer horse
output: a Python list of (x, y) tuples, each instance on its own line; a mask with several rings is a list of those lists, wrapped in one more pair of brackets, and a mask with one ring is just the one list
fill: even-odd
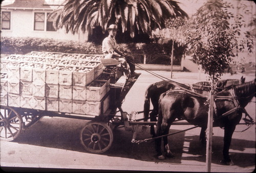
[[(241, 80), (237, 79), (227, 79), (227, 80), (220, 80), (217, 82), (216, 87), (218, 91), (223, 89), (230, 89), (233, 85), (243, 84), (245, 82), (245, 78), (241, 77)], [(157, 114), (158, 114), (158, 101), (159, 97), (162, 93), (168, 90), (175, 90), (185, 88), (188, 90), (194, 90), (197, 93), (209, 95), (210, 91), (210, 83), (208, 82), (198, 82), (190, 85), (180, 84), (177, 83), (174, 85), (172, 82), (169, 81), (160, 81), (154, 84), (151, 84), (147, 87), (145, 91), (145, 100), (144, 100), (144, 120), (147, 121), (148, 115), (150, 113), (150, 101), (153, 105), (153, 110), (150, 113), (150, 121), (157, 121)], [(155, 136), (154, 126), (151, 126), (151, 135)], [(200, 140), (202, 143), (205, 142), (205, 129), (202, 129), (200, 133)]]

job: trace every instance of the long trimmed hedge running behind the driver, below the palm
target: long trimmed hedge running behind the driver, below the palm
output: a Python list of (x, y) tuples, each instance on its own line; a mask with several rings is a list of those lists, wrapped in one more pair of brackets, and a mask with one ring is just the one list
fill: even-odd
[[(144, 55), (147, 64), (170, 64), (170, 43), (122, 43), (120, 50), (134, 55), (136, 63), (143, 63)], [(174, 64), (180, 63), (184, 48), (176, 48)], [(60, 41), (34, 37), (1, 37), (1, 54), (27, 54), (38, 52), (61, 52), (77, 54), (102, 54), (101, 45), (92, 42)]]

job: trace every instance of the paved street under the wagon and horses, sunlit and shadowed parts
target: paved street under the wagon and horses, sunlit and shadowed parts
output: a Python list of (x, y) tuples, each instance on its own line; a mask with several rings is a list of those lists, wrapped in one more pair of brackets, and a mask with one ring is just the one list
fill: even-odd
[[(148, 85), (160, 81), (145, 71), (126, 95), (123, 110), (142, 111), (144, 92)], [(170, 71), (154, 71), (170, 78)], [(222, 79), (240, 79), (241, 74)], [(246, 74), (246, 82), (255, 78), (255, 71)], [(195, 72), (174, 72), (173, 80), (190, 84), (205, 81), (205, 75)], [(253, 98), (255, 101), (255, 98)], [(255, 103), (246, 110), (255, 119)], [(140, 118), (142, 115), (137, 115)], [(79, 141), (79, 133), (87, 120), (43, 117), (34, 126), (25, 131), (15, 141), (1, 141), (1, 166), (71, 169), (112, 169), (112, 170), (155, 170), (155, 171), (206, 171), (205, 146), (199, 141), (200, 129), (169, 136), (170, 150), (174, 158), (160, 161), (155, 158), (154, 142), (132, 143), (132, 133), (117, 129), (111, 149), (101, 155), (86, 152)], [(242, 120), (241, 120), (242, 122)], [(193, 126), (172, 126), (170, 132)], [(234, 166), (221, 165), (223, 134), (221, 128), (214, 128), (212, 146), (213, 172), (252, 172), (255, 168), (255, 125), (245, 132), (247, 127), (239, 125), (233, 134), (230, 157)], [(138, 139), (151, 138), (149, 128), (138, 134)]]

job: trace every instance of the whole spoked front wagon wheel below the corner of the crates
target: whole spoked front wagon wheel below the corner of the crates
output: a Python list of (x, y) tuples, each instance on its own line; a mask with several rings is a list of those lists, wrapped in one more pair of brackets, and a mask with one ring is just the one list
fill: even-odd
[(104, 122), (90, 121), (81, 130), (80, 140), (88, 152), (100, 154), (110, 149), (113, 142), (113, 132)]

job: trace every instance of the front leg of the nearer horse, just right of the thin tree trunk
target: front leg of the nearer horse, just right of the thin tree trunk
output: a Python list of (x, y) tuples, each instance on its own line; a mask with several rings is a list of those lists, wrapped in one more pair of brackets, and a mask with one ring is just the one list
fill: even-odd
[(223, 160), (221, 160), (221, 163), (226, 165), (234, 165), (232, 160), (229, 158), (229, 146), (231, 143), (232, 135), (234, 132), (234, 129), (236, 129), (236, 126), (225, 126), (224, 129), (224, 146), (223, 146)]

